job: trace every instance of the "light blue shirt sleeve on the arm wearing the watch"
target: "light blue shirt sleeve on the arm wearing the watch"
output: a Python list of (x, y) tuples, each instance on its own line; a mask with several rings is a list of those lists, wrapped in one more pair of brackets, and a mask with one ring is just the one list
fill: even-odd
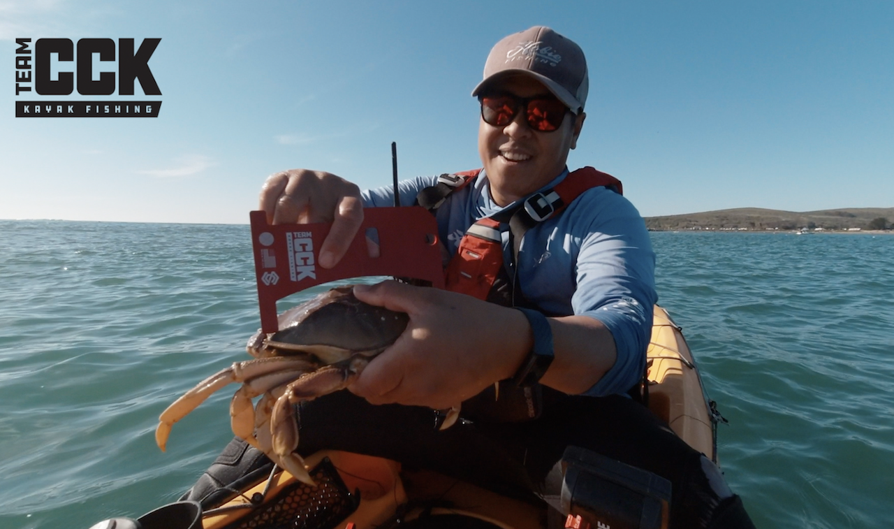
[(627, 199), (604, 194), (608, 200), (581, 244), (578, 286), (571, 300), (575, 314), (603, 322), (617, 349), (611, 370), (586, 391), (596, 397), (626, 393), (643, 376), (658, 297), (655, 257), (643, 218)]

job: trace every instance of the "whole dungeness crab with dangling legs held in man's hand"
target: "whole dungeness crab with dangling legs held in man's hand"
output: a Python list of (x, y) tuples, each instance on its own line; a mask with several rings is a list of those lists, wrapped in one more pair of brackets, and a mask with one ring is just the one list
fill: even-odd
[[(232, 431), (302, 482), (313, 483), (298, 448), (293, 405), (346, 388), (367, 363), (401, 336), (409, 317), (360, 302), (352, 286), (334, 288), (279, 316), (280, 330), (249, 339), (255, 360), (233, 363), (202, 380), (159, 417), (164, 450), (174, 422), (231, 382), (242, 387), (230, 404)], [(261, 396), (257, 405), (252, 398)], [(452, 415), (457, 414), (453, 411)], [(448, 422), (455, 420), (449, 416)]]

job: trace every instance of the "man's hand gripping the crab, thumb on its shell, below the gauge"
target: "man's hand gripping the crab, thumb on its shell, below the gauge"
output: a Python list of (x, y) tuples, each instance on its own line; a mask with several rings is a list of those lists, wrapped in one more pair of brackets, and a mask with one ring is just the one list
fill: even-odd
[(512, 376), (531, 347), (524, 314), (468, 295), (395, 281), (354, 294), (409, 314), (401, 337), (350, 385), (373, 404), (458, 405)]

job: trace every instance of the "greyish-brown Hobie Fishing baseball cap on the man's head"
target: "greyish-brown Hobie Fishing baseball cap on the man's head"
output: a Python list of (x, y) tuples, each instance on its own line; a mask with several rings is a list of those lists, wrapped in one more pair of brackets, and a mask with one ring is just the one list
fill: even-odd
[(487, 55), (484, 81), (472, 90), (472, 96), (477, 96), (493, 81), (513, 73), (528, 75), (544, 83), (575, 113), (583, 110), (590, 87), (586, 57), (570, 38), (545, 26), (534, 26), (503, 38)]

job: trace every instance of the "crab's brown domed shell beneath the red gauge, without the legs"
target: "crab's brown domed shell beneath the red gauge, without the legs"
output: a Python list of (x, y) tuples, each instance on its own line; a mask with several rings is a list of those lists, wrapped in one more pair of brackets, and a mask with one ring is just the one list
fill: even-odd
[(257, 331), (247, 350), (257, 358), (313, 354), (328, 365), (381, 353), (408, 323), (406, 313), (363, 303), (353, 286), (340, 286), (280, 314), (280, 330)]

